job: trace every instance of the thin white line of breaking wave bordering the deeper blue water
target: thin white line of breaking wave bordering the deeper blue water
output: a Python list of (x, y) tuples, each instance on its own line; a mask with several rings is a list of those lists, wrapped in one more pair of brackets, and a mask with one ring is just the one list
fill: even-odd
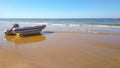
[[(14, 24), (14, 23), (12, 23)], [(120, 26), (115, 25), (98, 25), (98, 24), (61, 24), (61, 23), (47, 23), (47, 22), (19, 22), (18, 24), (26, 24), (26, 25), (52, 25), (52, 26), (69, 26), (69, 27), (98, 27), (98, 28), (120, 28)]]

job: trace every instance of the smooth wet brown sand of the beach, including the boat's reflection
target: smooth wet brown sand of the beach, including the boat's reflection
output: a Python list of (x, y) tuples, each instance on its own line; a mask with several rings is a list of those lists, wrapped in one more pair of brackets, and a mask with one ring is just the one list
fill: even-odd
[(55, 32), (3, 36), (0, 68), (120, 68), (120, 36)]

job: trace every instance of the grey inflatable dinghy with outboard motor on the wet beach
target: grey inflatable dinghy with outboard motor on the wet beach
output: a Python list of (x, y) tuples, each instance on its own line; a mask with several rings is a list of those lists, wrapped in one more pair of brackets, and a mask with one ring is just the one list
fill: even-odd
[(46, 27), (46, 25), (23, 27), (20, 28), (18, 24), (14, 24), (11, 29), (5, 30), (6, 35), (27, 35), (27, 34), (40, 34), (40, 32)]

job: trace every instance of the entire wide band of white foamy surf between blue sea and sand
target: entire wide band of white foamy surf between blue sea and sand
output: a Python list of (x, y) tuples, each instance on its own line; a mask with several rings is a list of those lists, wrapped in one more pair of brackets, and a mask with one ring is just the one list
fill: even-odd
[[(14, 22), (0, 23), (0, 30), (8, 29)], [(16, 22), (15, 22), (16, 23)], [(120, 26), (115, 25), (96, 25), (96, 24), (61, 24), (61, 23), (47, 23), (47, 22), (19, 22), (21, 27), (47, 25), (44, 31), (60, 31), (60, 32), (108, 32), (108, 33), (120, 33)], [(3, 26), (4, 25), (4, 26)]]

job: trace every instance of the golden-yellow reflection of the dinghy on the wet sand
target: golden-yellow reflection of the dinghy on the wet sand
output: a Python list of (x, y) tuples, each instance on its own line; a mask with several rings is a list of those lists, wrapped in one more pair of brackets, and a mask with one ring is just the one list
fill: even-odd
[(5, 40), (7, 42), (11, 42), (14, 45), (21, 45), (21, 44), (29, 44), (29, 43), (35, 43), (35, 42), (42, 42), (46, 39), (46, 37), (42, 34), (39, 35), (27, 35), (27, 36), (9, 36), (5, 35)]

